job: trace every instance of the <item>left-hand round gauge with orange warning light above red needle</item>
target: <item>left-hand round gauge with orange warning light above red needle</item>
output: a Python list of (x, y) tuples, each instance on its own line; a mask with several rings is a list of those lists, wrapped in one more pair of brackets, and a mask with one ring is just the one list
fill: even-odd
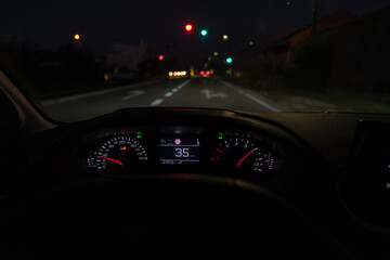
[(144, 146), (128, 135), (106, 140), (95, 152), (90, 153), (88, 165), (94, 170), (109, 174), (136, 171), (147, 160)]

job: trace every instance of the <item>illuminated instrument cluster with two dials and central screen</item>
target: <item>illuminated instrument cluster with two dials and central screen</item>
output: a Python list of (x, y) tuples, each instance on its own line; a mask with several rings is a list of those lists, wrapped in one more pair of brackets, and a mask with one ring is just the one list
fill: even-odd
[(283, 169), (285, 146), (252, 131), (122, 127), (90, 133), (82, 165), (93, 176), (200, 173), (264, 178)]

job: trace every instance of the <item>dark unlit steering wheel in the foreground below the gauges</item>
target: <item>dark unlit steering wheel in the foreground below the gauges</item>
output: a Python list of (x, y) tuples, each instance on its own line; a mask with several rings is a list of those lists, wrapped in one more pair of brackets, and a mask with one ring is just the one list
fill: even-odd
[(351, 259), (275, 195), (206, 176), (47, 190), (3, 221), (2, 230), (1, 259)]

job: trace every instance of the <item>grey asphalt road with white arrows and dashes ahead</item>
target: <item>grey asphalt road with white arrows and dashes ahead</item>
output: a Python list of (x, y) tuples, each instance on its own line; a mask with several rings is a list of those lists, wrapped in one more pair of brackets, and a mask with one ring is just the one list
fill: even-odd
[(212, 107), (280, 112), (283, 107), (218, 78), (164, 79), (40, 100), (38, 107), (58, 121), (93, 118), (127, 107)]

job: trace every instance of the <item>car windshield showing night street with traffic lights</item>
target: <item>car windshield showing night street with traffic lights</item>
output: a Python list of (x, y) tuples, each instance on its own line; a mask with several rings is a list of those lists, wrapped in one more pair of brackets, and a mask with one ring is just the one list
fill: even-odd
[(390, 113), (389, 0), (14, 0), (0, 10), (0, 69), (58, 121), (128, 107)]

